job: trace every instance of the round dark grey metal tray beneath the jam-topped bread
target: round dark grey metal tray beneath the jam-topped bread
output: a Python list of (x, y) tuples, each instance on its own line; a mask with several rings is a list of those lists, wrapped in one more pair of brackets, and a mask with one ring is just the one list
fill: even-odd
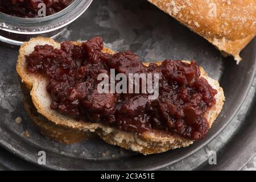
[[(211, 77), (220, 81), (226, 96), (224, 109), (208, 136), (187, 148), (148, 156), (122, 150), (98, 138), (69, 146), (47, 140), (36, 131), (24, 111), (15, 72), (18, 51), (0, 47), (1, 146), (34, 164), (38, 164), (38, 152), (46, 151), (47, 164), (43, 167), (49, 169), (160, 169), (191, 156), (217, 137), (237, 114), (254, 78), (255, 40), (242, 52), (244, 60), (236, 65), (232, 58), (224, 59), (205, 39), (147, 1), (94, 1), (59, 41), (86, 40), (93, 36), (102, 36), (105, 46), (114, 51), (130, 49), (147, 61), (195, 59)], [(22, 123), (15, 123), (17, 117), (22, 118)], [(25, 131), (30, 137), (24, 137)]]

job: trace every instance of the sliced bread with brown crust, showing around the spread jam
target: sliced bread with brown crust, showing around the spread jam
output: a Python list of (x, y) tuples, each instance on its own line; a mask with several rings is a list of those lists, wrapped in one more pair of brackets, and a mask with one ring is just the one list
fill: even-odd
[[(101, 123), (77, 121), (77, 119), (73, 119), (67, 115), (60, 114), (56, 110), (52, 110), (50, 108), (52, 98), (46, 90), (46, 86), (48, 84), (47, 79), (42, 75), (29, 73), (26, 70), (25, 55), (29, 55), (34, 51), (34, 47), (36, 45), (45, 44), (51, 45), (55, 48), (60, 48), (59, 43), (49, 38), (39, 37), (31, 39), (30, 42), (24, 43), (23, 46), (20, 47), (18, 63), (16, 65), (16, 71), (19, 74), (22, 87), (24, 88), (23, 90), (27, 89), (31, 96), (30, 98), (32, 103), (29, 103), (30, 98), (26, 98), (25, 106), (32, 120), (36, 123), (36, 126), (40, 128), (43, 135), (47, 135), (48, 138), (53, 138), (60, 142), (72, 143), (76, 141), (73, 138), (69, 139), (69, 137), (74, 137), (74, 132), (76, 133), (75, 135), (79, 135), (79, 137), (77, 137), (79, 139), (77, 140), (83, 139), (83, 137), (87, 138), (91, 133), (95, 133), (105, 140), (105, 142), (121, 146), (127, 150), (130, 149), (141, 152), (145, 155), (185, 147), (193, 143), (192, 140), (181, 137), (175, 133), (166, 133), (164, 131), (157, 130), (146, 131), (141, 135), (126, 133), (109, 126), (102, 125)], [(74, 44), (80, 45), (81, 43), (74, 42)], [(108, 48), (104, 48), (102, 52), (114, 53)], [(159, 65), (161, 64), (161, 62), (157, 63)], [(144, 63), (144, 65), (148, 64), (149, 63)], [(207, 118), (209, 126), (212, 126), (212, 123), (217, 118), (224, 104), (224, 92), (218, 84), (218, 81), (208, 77), (203, 68), (201, 68), (201, 76), (206, 78), (214, 89), (218, 90), (218, 93), (215, 96), (217, 101), (216, 105), (210, 108), (210, 110), (205, 114), (205, 118)], [(34, 106), (32, 106), (33, 104)], [(32, 107), (35, 107), (38, 113), (31, 112)], [(38, 117), (35, 117), (36, 115), (38, 115)], [(42, 125), (40, 123), (44, 124)], [(51, 126), (51, 131), (48, 131), (48, 127), (46, 127), (48, 125)], [(55, 130), (60, 133), (58, 137), (55, 137)], [(81, 137), (81, 133), (85, 134)], [(61, 138), (61, 136), (65, 137), (65, 139)]]

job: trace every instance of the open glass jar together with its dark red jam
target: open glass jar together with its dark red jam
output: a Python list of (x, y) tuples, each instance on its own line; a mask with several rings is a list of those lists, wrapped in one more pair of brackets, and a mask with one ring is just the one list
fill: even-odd
[[(46, 5), (46, 16), (38, 16), (39, 2)], [(56, 38), (90, 3), (92, 0), (1, 0), (0, 42), (20, 46), (36, 36)]]

